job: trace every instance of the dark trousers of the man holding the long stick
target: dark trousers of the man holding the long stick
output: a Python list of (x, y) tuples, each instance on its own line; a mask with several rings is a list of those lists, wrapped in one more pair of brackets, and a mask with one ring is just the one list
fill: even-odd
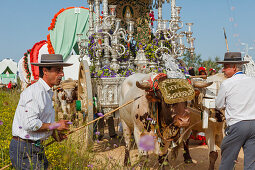
[(15, 169), (47, 169), (48, 160), (44, 148), (20, 140), (11, 140), (10, 159)]

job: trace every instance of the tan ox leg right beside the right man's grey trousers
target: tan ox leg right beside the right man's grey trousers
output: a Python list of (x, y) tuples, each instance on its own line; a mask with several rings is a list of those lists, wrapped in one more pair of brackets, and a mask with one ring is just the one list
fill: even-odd
[(208, 129), (205, 130), (205, 137), (206, 137), (206, 142), (209, 148), (209, 170), (214, 170), (214, 165), (215, 162), (218, 158), (218, 153), (216, 150), (216, 145), (215, 145), (215, 135), (213, 131), (213, 127), (209, 125)]

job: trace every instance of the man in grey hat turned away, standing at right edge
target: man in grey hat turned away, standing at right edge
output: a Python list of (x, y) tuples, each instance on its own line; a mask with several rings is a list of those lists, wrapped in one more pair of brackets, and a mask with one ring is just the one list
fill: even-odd
[(255, 169), (255, 78), (242, 72), (241, 53), (225, 54), (223, 81), (216, 98), (216, 108), (225, 109), (227, 128), (221, 144), (220, 170), (233, 169), (241, 147), (244, 151), (244, 169)]

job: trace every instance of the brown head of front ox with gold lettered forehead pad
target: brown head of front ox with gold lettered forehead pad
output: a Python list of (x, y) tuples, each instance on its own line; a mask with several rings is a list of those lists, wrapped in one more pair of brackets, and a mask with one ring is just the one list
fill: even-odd
[(176, 127), (188, 126), (190, 116), (187, 101), (192, 100), (195, 95), (192, 86), (184, 79), (162, 78), (158, 82), (157, 90), (151, 90), (151, 83), (148, 81), (137, 81), (136, 86), (147, 92), (146, 98), (149, 102), (159, 103), (159, 114), (164, 122)]

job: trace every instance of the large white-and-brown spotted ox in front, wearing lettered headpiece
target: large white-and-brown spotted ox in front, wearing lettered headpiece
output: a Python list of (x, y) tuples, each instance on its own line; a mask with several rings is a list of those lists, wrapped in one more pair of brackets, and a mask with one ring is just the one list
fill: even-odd
[[(166, 156), (171, 142), (178, 140), (180, 136), (180, 128), (189, 125), (190, 116), (187, 109), (187, 102), (185, 102), (185, 100), (175, 104), (167, 104), (162, 97), (161, 90), (148, 92), (148, 90), (151, 88), (151, 84), (147, 80), (153, 80), (151, 78), (153, 76), (153, 73), (133, 74), (132, 76), (128, 77), (121, 85), (120, 105), (138, 96), (142, 96), (134, 103), (120, 110), (120, 118), (124, 130), (123, 135), (126, 142), (124, 160), (125, 165), (128, 164), (129, 159), (129, 151), (131, 148), (131, 133), (134, 135), (139, 153), (143, 155), (146, 155), (147, 152), (144, 152), (138, 145), (141, 136), (154, 136), (155, 148), (153, 152), (159, 155), (159, 163), (162, 163), (163, 157)], [(159, 78), (158, 82), (162, 82), (165, 79), (166, 77)], [(193, 91), (192, 87), (191, 89)], [(158, 131), (155, 133), (156, 128), (153, 129), (153, 126), (149, 126), (150, 119), (155, 117), (153, 116), (153, 105), (155, 103), (158, 106), (159, 131), (161, 131), (163, 134), (164, 130), (162, 130), (162, 128), (165, 125), (166, 129), (168, 129), (167, 132), (165, 131), (168, 137), (167, 140), (163, 140), (164, 137), (162, 138), (162, 136), (160, 136), (161, 138), (158, 138)], [(158, 139), (162, 139), (162, 141)]]

